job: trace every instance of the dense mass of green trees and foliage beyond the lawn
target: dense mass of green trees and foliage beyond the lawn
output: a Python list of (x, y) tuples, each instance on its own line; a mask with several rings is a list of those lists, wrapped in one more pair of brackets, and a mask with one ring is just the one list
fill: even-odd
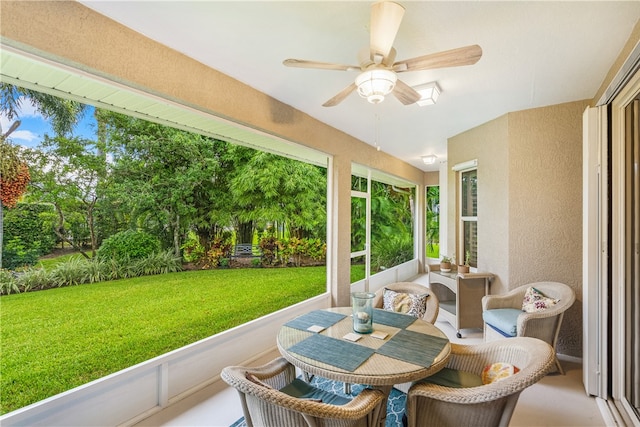
[[(267, 229), (280, 239), (326, 234), (324, 168), (101, 109), (93, 110), (95, 138), (75, 137), (86, 106), (0, 88), (5, 115), (31, 102), (51, 118), (56, 134), (23, 153), (31, 171), (23, 203), (52, 206), (56, 242), (87, 259), (126, 230), (156, 236), (175, 256), (195, 235), (209, 266)], [(3, 243), (22, 254), (18, 265), (35, 262), (28, 247), (15, 235)]]

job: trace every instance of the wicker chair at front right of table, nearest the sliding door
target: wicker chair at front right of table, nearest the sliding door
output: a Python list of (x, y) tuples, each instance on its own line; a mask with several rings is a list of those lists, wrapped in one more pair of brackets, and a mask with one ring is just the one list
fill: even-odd
[(514, 375), (487, 385), (450, 388), (424, 380), (407, 394), (409, 427), (508, 426), (520, 393), (553, 367), (551, 346), (535, 338), (513, 338), (478, 345), (452, 344), (447, 367), (481, 375), (492, 363), (510, 363)]

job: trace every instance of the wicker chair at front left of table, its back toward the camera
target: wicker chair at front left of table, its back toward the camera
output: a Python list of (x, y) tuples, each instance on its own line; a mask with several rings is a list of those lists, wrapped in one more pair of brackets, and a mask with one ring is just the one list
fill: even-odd
[(343, 405), (293, 397), (279, 391), (295, 380), (295, 367), (282, 357), (258, 367), (228, 366), (221, 377), (238, 390), (248, 427), (374, 426), (380, 422), (382, 402), (386, 401), (380, 390), (372, 389), (363, 390)]

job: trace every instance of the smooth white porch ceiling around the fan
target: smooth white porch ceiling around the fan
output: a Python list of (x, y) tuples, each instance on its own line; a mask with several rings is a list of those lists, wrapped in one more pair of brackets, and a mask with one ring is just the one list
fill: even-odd
[[(357, 65), (369, 1), (94, 1), (81, 3), (423, 170), (446, 140), (510, 111), (593, 98), (640, 19), (640, 1), (402, 1), (397, 59), (479, 44), (471, 66), (399, 74), (437, 81), (436, 105), (379, 105), (352, 93), (357, 73), (288, 68), (286, 58)], [(188, 76), (185, 76), (188, 78)]]

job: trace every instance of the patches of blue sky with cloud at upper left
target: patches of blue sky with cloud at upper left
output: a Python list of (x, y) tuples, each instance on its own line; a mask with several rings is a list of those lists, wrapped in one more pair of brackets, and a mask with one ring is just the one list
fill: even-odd
[[(93, 110), (94, 108), (89, 106), (82, 121), (76, 126), (74, 135), (87, 139), (95, 139)], [(9, 136), (9, 141), (15, 145), (34, 148), (44, 139), (45, 134), (49, 136), (54, 135), (48, 121), (46, 121), (40, 113), (36, 112), (28, 101), (23, 100), (17, 119), (21, 122), (20, 127)], [(2, 132), (4, 133), (9, 130), (15, 120), (16, 119), (8, 120), (4, 114), (0, 114)]]

